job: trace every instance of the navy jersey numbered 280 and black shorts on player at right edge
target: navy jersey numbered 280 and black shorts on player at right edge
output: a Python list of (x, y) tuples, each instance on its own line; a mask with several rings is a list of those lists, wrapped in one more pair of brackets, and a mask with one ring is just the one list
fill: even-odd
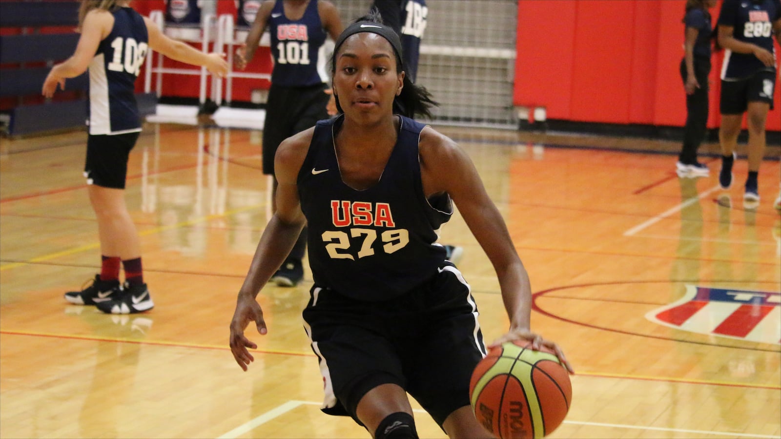
[[(779, 0), (725, 0), (719, 14), (719, 25), (733, 27), (738, 41), (758, 45), (776, 55), (772, 24), (781, 19)], [(723, 114), (746, 111), (747, 102), (761, 101), (773, 105), (776, 67), (765, 66), (753, 53), (726, 50), (722, 63)]]

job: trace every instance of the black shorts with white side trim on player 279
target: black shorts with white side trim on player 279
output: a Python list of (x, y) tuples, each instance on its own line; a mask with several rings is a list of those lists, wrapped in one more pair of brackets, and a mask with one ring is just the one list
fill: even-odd
[(486, 354), (469, 284), (450, 262), (412, 291), (386, 302), (358, 302), (317, 285), (304, 310), (319, 359), (323, 412), (355, 415), (380, 384), (398, 384), (442, 426), (469, 405), (469, 379)]

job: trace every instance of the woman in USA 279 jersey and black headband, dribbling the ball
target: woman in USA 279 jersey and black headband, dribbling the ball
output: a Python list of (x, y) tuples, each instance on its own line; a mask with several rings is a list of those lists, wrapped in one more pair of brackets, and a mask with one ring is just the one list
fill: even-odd
[[(430, 96), (403, 72), (401, 41), (372, 20), (336, 41), (333, 92), (344, 114), (285, 140), (276, 154), (277, 209), (263, 231), (230, 324), (234, 359), (267, 327), (256, 296), (305, 223), (314, 277), (305, 330), (325, 384), (323, 411), (349, 414), (376, 438), (417, 437), (407, 392), (450, 437), (488, 437), (469, 407), (469, 377), (486, 354), (461, 272), (434, 244), (458, 205), (494, 265), (508, 312), (497, 342), (558, 346), (530, 331), (529, 278), (469, 156), (407, 116)], [(408, 112), (394, 115), (394, 101)]]

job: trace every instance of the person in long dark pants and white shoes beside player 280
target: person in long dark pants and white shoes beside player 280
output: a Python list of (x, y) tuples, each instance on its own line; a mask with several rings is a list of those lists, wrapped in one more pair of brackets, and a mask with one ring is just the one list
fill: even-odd
[(711, 12), (716, 0), (687, 0), (683, 16), (684, 43), (680, 73), (686, 90), (686, 126), (676, 172), (680, 177), (707, 177), (708, 166), (697, 162), (697, 149), (708, 128), (708, 75), (711, 73)]

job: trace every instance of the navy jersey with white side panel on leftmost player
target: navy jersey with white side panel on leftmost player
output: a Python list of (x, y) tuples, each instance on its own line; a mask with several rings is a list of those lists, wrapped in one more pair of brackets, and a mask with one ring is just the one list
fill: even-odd
[(112, 12), (114, 27), (90, 62), (90, 134), (141, 131), (135, 80), (146, 59), (144, 19), (131, 8)]

